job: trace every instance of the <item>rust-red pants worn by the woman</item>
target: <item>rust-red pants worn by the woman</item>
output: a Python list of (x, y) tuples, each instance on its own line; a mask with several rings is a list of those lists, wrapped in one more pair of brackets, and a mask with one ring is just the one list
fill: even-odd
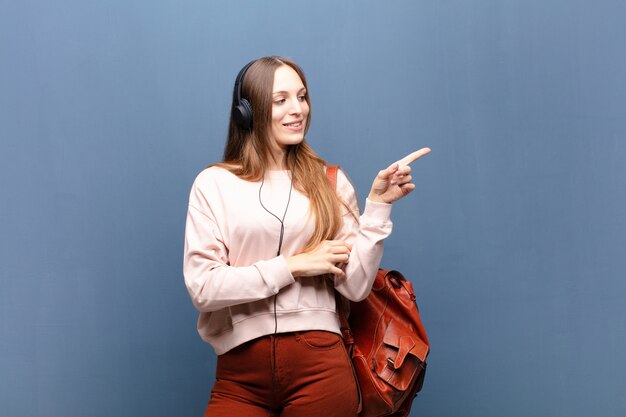
[(341, 336), (308, 331), (261, 337), (218, 356), (204, 417), (351, 417), (357, 407)]

